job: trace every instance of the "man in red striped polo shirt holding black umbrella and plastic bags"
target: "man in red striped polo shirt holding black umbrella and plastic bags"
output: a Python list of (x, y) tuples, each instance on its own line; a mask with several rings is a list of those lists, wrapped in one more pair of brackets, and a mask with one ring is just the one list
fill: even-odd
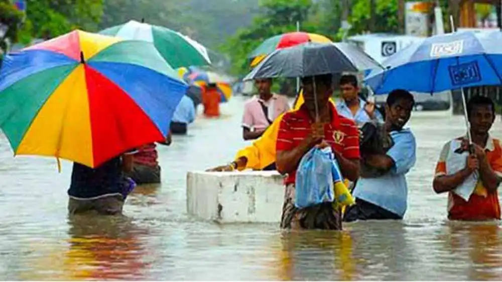
[(329, 103), (333, 94), (332, 75), (306, 77), (302, 84), (305, 104), (298, 111), (284, 115), (276, 143), (277, 170), (288, 174), (281, 227), (340, 230), (340, 210), (335, 210), (331, 203), (304, 209), (295, 207), (296, 170), (302, 157), (314, 146), (331, 146), (343, 177), (355, 181), (359, 177), (359, 132), (354, 121), (338, 115)]

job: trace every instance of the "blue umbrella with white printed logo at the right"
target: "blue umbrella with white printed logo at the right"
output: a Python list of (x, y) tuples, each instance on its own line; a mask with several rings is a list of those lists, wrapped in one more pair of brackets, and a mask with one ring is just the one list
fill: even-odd
[(389, 57), (386, 70), (364, 82), (375, 94), (394, 89), (422, 93), (502, 84), (502, 33), (461, 32), (433, 36)]

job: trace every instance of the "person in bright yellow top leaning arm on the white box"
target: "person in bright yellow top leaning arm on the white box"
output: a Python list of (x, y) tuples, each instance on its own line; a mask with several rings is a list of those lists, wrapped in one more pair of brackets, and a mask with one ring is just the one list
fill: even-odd
[[(332, 98), (330, 98), (329, 101), (333, 103), (333, 105), (335, 104)], [(300, 106), (303, 105), (303, 102), (303, 92), (300, 92), (291, 111), (298, 110)], [(283, 116), (284, 114), (278, 116), (267, 130), (265, 130), (263, 135), (253, 142), (252, 145), (238, 151), (234, 161), (227, 165), (208, 169), (208, 171), (233, 171), (235, 169), (263, 170), (275, 164), (277, 133)]]

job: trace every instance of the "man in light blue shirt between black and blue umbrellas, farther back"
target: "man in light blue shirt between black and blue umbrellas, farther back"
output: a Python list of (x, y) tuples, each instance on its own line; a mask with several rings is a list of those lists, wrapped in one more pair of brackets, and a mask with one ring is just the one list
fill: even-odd
[(359, 98), (359, 86), (354, 75), (340, 78), (341, 99), (336, 103), (339, 115), (354, 120), (358, 126), (368, 121), (383, 122), (383, 117), (374, 103), (364, 102)]

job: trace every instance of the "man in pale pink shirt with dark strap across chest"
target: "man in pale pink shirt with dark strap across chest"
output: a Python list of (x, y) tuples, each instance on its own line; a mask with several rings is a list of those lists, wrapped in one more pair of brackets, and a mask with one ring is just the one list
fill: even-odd
[(272, 79), (257, 79), (255, 85), (259, 95), (244, 105), (242, 117), (244, 140), (258, 139), (278, 116), (290, 109), (286, 97), (270, 91)]

